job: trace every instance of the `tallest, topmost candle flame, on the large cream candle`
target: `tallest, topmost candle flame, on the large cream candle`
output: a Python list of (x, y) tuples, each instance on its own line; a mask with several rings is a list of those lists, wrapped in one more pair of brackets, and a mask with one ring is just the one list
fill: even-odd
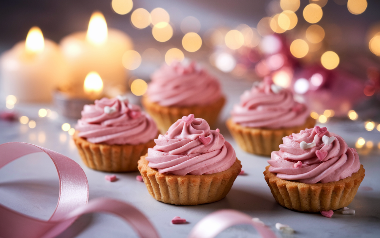
[(99, 11), (92, 13), (86, 39), (93, 45), (103, 45), (108, 35), (107, 22)]

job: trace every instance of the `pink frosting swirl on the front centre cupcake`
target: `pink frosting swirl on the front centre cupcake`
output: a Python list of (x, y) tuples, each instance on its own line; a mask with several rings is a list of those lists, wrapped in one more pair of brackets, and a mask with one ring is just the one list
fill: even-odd
[(235, 150), (218, 129), (211, 130), (206, 120), (194, 119), (193, 114), (176, 121), (154, 142), (146, 160), (159, 173), (213, 174), (225, 171), (236, 161)]

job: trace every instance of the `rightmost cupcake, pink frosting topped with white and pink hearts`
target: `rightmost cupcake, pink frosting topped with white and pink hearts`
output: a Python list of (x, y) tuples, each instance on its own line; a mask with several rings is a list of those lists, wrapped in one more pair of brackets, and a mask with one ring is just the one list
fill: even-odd
[(277, 203), (303, 212), (348, 206), (365, 171), (355, 149), (319, 126), (284, 137), (268, 163), (265, 180)]

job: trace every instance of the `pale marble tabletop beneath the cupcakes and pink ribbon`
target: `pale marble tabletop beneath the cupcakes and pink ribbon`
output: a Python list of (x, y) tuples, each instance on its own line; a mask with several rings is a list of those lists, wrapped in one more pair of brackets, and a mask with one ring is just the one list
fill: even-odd
[[(39, 118), (38, 109), (52, 105), (16, 105), (19, 115), (26, 115), (36, 121), (36, 128), (28, 128), (18, 121), (0, 121), (0, 143), (22, 141), (55, 150), (75, 160), (82, 166), (89, 181), (90, 199), (110, 197), (132, 203), (151, 220), (161, 237), (185, 238), (192, 227), (207, 214), (218, 209), (236, 209), (252, 217), (259, 217), (278, 237), (379, 237), (380, 236), (380, 142), (379, 131), (366, 131), (361, 122), (330, 121), (323, 126), (340, 134), (353, 147), (358, 137), (374, 142), (369, 152), (359, 157), (366, 169), (358, 193), (348, 206), (355, 209), (355, 215), (334, 212), (332, 218), (321, 214), (295, 212), (277, 204), (264, 180), (263, 171), (267, 157), (243, 152), (228, 133), (224, 121), (238, 95), (251, 86), (250, 82), (222, 79), (228, 97), (218, 127), (236, 150), (242, 162), (244, 176), (238, 176), (230, 193), (221, 201), (197, 206), (176, 206), (153, 199), (144, 185), (135, 177), (139, 174), (120, 173), (119, 180), (108, 182), (106, 174), (87, 168), (79, 158), (76, 147), (67, 132), (62, 131), (63, 123), (75, 125), (74, 120)], [(366, 155), (365, 155), (366, 154)], [(372, 190), (369, 190), (372, 189)], [(59, 183), (52, 161), (42, 153), (29, 155), (13, 161), (0, 169), (0, 203), (25, 214), (47, 219), (54, 211), (58, 200)], [(173, 225), (174, 216), (187, 219), (187, 224)], [(296, 233), (283, 235), (275, 228), (280, 222), (288, 224)], [(90, 214), (79, 218), (60, 238), (137, 237), (136, 233), (122, 220), (107, 214)], [(217, 237), (258, 237), (257, 232), (247, 225), (225, 230)]]

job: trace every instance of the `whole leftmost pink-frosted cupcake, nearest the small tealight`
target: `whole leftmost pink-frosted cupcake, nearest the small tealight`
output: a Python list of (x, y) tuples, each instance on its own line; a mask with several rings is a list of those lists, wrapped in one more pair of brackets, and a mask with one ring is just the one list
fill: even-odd
[(85, 105), (75, 129), (84, 164), (107, 172), (137, 171), (137, 161), (158, 135), (152, 118), (121, 96)]

